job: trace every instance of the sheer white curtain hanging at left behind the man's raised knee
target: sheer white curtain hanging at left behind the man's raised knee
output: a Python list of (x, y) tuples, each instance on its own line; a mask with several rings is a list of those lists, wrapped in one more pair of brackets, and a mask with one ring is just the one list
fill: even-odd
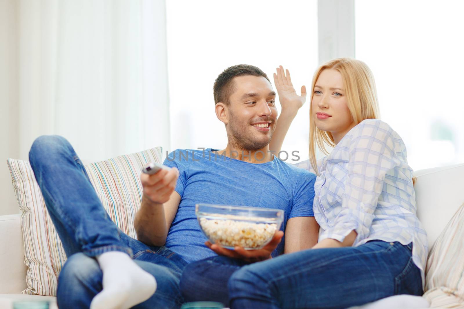
[[(42, 134), (64, 136), (84, 160), (169, 149), (164, 0), (13, 0), (1, 6), (11, 11), (2, 16), (13, 14), (7, 22), (16, 32), (5, 43), (14, 64), (1, 79), (13, 77), (1, 102), (10, 115), (2, 116), (1, 128), (15, 135), (15, 142), (11, 134), (2, 141), (9, 143), (4, 159), (27, 159)], [(0, 185), (13, 191), (4, 167)], [(4, 209), (2, 203), (0, 214)]]

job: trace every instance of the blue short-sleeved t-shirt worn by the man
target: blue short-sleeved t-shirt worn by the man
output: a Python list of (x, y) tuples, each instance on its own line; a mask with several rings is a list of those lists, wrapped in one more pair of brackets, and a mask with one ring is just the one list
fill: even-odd
[[(164, 165), (176, 167), (179, 179), (175, 190), (180, 204), (168, 232), (166, 244), (187, 262), (215, 256), (205, 246), (195, 216), (195, 204), (220, 204), (276, 208), (284, 210), (281, 230), (294, 217), (314, 216), (314, 182), (316, 175), (287, 164), (276, 156), (271, 162), (253, 164), (216, 155), (211, 148), (177, 149), (168, 155)], [(272, 252), (284, 251), (284, 239)]]

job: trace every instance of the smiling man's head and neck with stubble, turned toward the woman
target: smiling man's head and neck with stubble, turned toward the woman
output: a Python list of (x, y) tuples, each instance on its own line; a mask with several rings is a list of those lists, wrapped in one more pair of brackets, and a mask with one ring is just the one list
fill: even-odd
[(231, 151), (238, 151), (239, 158), (245, 152), (263, 151), (265, 155), (250, 159), (271, 160), (276, 93), (264, 72), (247, 65), (231, 67), (218, 76), (213, 89), (216, 115), (226, 125), (228, 144), (224, 151), (229, 157), (233, 156)]

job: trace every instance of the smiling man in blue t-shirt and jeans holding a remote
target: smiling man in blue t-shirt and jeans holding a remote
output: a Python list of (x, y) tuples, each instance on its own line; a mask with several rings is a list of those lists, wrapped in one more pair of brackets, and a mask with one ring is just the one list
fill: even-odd
[(218, 76), (215, 111), (226, 126), (227, 147), (174, 151), (164, 162), (171, 170), (142, 174), (142, 205), (134, 221), (138, 240), (118, 230), (105, 213), (71, 145), (61, 137), (39, 137), (29, 158), (68, 256), (58, 278), (58, 305), (180, 307), (185, 266), (216, 254), (204, 245), (196, 203), (284, 210), (284, 241), (279, 231), (261, 250), (238, 249), (238, 259), (267, 259), (315, 245), (316, 177), (269, 151), (277, 120), (275, 97), (267, 76), (254, 66), (233, 66)]

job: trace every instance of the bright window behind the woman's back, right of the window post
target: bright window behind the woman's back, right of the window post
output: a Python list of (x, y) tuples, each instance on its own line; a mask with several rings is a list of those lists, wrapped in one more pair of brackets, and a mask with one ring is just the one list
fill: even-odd
[(464, 162), (464, 2), (355, 2), (356, 58), (414, 170)]

